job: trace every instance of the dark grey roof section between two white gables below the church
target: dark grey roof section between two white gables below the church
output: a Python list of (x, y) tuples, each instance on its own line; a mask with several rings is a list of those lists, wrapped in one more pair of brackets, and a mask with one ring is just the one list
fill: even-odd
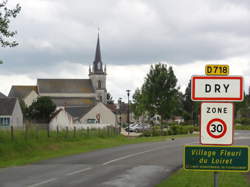
[(87, 114), (95, 105), (85, 105), (81, 107), (65, 107), (65, 111), (68, 112), (74, 118), (81, 118)]

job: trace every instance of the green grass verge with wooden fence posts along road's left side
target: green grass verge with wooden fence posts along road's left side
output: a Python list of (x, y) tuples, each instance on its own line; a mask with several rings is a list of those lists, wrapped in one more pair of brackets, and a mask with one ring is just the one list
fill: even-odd
[(70, 131), (61, 132), (59, 135), (51, 132), (50, 138), (47, 137), (46, 131), (31, 131), (25, 137), (24, 132), (17, 131), (11, 140), (8, 131), (0, 131), (0, 167), (23, 165), (124, 144), (163, 141), (168, 138), (171, 136), (128, 138), (103, 131), (90, 131), (89, 134), (86, 131), (77, 131), (75, 136)]

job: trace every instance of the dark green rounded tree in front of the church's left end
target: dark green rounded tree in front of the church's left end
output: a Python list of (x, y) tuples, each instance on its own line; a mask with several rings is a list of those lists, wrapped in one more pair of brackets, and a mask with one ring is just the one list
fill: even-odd
[(50, 116), (55, 111), (55, 109), (56, 105), (53, 103), (50, 97), (39, 97), (28, 108), (29, 117), (31, 119), (47, 123), (49, 122)]

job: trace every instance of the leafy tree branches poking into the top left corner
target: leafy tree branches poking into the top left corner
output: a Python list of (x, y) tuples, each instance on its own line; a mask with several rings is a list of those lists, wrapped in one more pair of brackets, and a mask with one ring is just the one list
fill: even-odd
[(11, 18), (15, 18), (21, 11), (21, 6), (16, 5), (14, 9), (7, 8), (8, 0), (0, 2), (0, 44), (2, 47), (15, 47), (18, 43), (15, 40), (9, 40), (14, 37), (17, 31), (9, 30)]

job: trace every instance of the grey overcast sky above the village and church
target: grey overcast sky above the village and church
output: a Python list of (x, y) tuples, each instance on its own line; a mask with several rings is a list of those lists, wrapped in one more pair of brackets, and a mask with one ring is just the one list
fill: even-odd
[[(2, 1), (2, 0), (0, 0)], [(185, 90), (205, 64), (229, 64), (250, 83), (249, 0), (9, 0), (22, 11), (16, 48), (0, 48), (0, 91), (37, 78), (88, 78), (100, 27), (107, 90), (141, 87), (150, 65), (173, 66)]]

